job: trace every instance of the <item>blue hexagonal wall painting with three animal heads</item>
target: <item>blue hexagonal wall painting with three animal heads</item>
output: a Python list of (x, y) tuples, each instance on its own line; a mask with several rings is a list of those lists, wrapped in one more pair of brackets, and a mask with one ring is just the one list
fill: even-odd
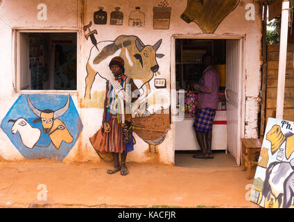
[(59, 123), (59, 126), (56, 125), (58, 128), (54, 130), (52, 125), (51, 138), (48, 133), (44, 133), (42, 121), (34, 122), (40, 117), (28, 105), (28, 96), (32, 105), (41, 112), (42, 110), (59, 110), (67, 104), (68, 99), (68, 96), (59, 94), (21, 94), (1, 121), (1, 129), (24, 157), (63, 160), (83, 130), (83, 123), (74, 101), (69, 96), (69, 108), (53, 120), (55, 124)]

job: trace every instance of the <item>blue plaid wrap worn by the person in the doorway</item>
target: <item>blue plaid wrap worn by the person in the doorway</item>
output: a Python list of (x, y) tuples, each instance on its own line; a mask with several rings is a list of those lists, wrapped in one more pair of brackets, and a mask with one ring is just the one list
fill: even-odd
[(208, 133), (212, 131), (212, 124), (214, 123), (214, 117), (216, 116), (216, 110), (210, 108), (204, 108), (198, 110), (193, 124), (193, 128), (196, 131)]

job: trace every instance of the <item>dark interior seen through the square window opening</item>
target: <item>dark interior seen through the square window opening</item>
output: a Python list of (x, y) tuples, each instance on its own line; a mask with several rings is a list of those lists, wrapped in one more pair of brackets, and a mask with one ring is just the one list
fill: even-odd
[(28, 89), (76, 90), (76, 33), (24, 33), (29, 37)]

